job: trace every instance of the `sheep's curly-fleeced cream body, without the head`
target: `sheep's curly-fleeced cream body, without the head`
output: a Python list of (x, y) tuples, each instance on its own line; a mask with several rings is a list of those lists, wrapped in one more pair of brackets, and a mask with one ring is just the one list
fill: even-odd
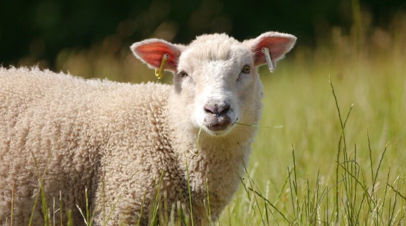
[[(50, 155), (44, 178), (48, 205), (52, 206), (53, 198), (58, 203), (61, 191), (63, 210), (72, 209), (75, 222), (83, 220), (75, 204), (84, 209), (85, 187), (91, 205), (97, 203), (100, 210), (97, 223), (104, 221), (122, 189), (109, 222), (137, 221), (144, 195), (144, 208), (155, 198), (154, 180), (162, 169), (162, 191), (167, 192), (168, 202), (182, 200), (179, 191), (188, 199), (185, 156), (195, 220), (206, 215), (202, 206), (206, 178), (216, 217), (237, 187), (254, 129), (241, 127), (234, 132), (240, 136), (232, 139), (200, 138), (199, 154), (193, 155), (195, 136), (185, 136), (181, 131), (188, 130), (187, 126), (179, 128), (168, 114), (177, 114), (176, 108), (168, 109), (171, 92), (170, 85), (133, 85), (39, 69), (0, 68), (0, 223), (10, 219), (14, 184), (14, 223), (27, 224), (39, 189), (33, 156), (42, 173)], [(257, 121), (259, 114), (254, 115)], [(39, 202), (33, 225), (40, 225), (42, 219)]]

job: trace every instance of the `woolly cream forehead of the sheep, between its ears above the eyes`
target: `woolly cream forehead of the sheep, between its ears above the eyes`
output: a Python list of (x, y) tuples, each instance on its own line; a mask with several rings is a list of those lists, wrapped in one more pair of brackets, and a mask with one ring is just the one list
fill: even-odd
[(240, 64), (250, 63), (252, 55), (246, 46), (225, 34), (202, 35), (182, 53), (180, 65), (197, 69), (201, 64), (211, 61), (224, 61), (241, 66)]

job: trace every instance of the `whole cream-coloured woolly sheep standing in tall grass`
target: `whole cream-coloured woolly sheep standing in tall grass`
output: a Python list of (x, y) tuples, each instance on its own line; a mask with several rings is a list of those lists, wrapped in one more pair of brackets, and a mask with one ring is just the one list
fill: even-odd
[[(269, 49), (275, 66), (295, 41), (269, 31), (243, 42), (211, 34), (189, 45), (134, 43), (133, 54), (150, 68), (168, 57), (164, 66), (174, 74), (172, 85), (1, 67), (0, 224), (11, 218), (12, 198), (14, 225), (28, 223), (45, 169), (47, 202), (61, 195), (62, 210), (72, 209), (76, 223), (83, 222), (76, 205), (85, 208), (87, 188), (90, 205), (97, 205), (96, 225), (110, 212), (108, 225), (139, 217), (146, 224), (162, 172), (160, 189), (170, 207), (188, 200), (189, 181), (196, 225), (207, 221), (207, 182), (216, 219), (238, 189), (257, 132), (234, 122), (258, 124), (261, 117), (257, 69), (267, 61), (261, 49)], [(33, 225), (43, 224), (40, 206)]]

